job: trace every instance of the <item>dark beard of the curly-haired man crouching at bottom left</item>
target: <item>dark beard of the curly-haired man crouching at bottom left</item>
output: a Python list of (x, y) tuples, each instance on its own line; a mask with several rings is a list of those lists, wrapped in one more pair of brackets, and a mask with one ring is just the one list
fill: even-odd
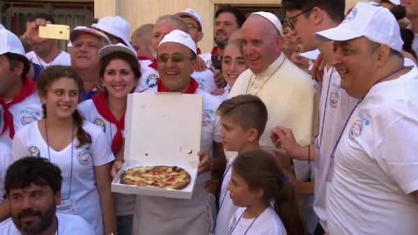
[[(54, 222), (56, 212), (56, 205), (51, 206), (45, 213), (41, 213), (40, 211), (34, 211), (33, 209), (26, 209), (19, 213), (17, 216), (12, 216), (13, 223), (20, 232), (24, 232), (26, 234), (40, 234), (45, 232), (52, 223)], [(36, 224), (26, 224), (22, 222), (22, 217), (24, 216), (38, 216), (40, 218), (39, 222)]]

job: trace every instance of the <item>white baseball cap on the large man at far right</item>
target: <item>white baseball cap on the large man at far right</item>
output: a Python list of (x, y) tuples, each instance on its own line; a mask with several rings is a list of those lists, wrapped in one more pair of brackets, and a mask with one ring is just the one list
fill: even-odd
[(372, 42), (387, 44), (396, 51), (402, 50), (401, 29), (394, 15), (387, 8), (371, 2), (357, 3), (339, 26), (315, 33), (316, 40), (321, 42), (346, 41), (362, 36)]

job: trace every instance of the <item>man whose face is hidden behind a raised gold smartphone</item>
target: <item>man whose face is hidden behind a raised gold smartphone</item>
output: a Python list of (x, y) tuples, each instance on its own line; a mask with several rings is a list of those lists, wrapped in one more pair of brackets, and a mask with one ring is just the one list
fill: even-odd
[[(26, 29), (28, 29), (30, 24), (35, 22), (36, 19), (45, 19), (45, 21), (55, 24), (54, 18), (52, 18), (51, 15), (45, 13), (35, 13), (28, 17)], [(33, 44), (31, 49), (32, 51), (28, 52), (26, 57), (33, 63), (42, 66), (71, 65), (70, 54), (65, 51), (61, 51), (54, 39), (47, 39), (44, 42)]]

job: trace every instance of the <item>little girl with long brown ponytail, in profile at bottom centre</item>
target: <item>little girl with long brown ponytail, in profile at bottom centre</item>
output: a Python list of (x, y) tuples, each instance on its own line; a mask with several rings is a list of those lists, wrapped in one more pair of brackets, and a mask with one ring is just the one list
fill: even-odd
[(304, 234), (295, 192), (267, 152), (240, 154), (228, 190), (235, 206), (228, 235)]

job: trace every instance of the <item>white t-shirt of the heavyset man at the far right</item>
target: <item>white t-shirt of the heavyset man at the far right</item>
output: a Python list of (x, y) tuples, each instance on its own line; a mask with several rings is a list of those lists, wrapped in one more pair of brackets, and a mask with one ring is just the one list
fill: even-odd
[(330, 234), (418, 234), (418, 68), (371, 88), (343, 131), (327, 190)]

